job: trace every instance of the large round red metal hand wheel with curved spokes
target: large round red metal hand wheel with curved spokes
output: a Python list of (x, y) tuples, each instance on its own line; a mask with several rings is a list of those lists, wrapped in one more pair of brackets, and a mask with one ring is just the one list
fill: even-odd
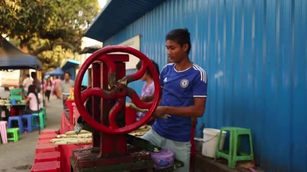
[[(145, 103), (142, 102), (138, 95), (135, 93), (134, 90), (128, 89), (128, 93), (125, 90), (121, 91), (121, 88), (119, 88), (120, 84), (116, 81), (116, 65), (113, 62), (113, 59), (109, 58), (107, 54), (114, 53), (114, 52), (123, 52), (128, 53), (131, 55), (134, 55), (138, 57), (142, 61), (142, 66), (139, 71), (136, 73), (127, 75), (119, 80), (120, 84), (127, 85), (129, 82), (135, 81), (140, 79), (144, 73), (146, 72), (146, 69), (148, 69), (151, 74), (152, 78), (154, 78), (155, 82), (155, 96), (154, 101)], [(113, 91), (106, 91), (101, 90), (100, 88), (91, 88), (81, 93), (81, 83), (83, 76), (85, 72), (87, 71), (88, 67), (95, 61), (102, 61), (105, 63), (105, 65), (108, 67), (108, 79), (109, 84)], [(94, 78), (93, 78), (94, 79)], [(116, 124), (116, 118), (117, 114), (120, 112), (121, 108), (125, 106), (125, 102), (123, 103), (119, 102), (114, 106), (114, 108), (110, 111), (109, 116), (109, 122), (110, 126), (105, 126), (104, 124), (99, 123), (94, 118), (92, 118), (91, 115), (88, 114), (84, 107), (84, 102), (86, 99), (90, 96), (99, 96), (104, 99), (123, 99), (125, 100), (125, 96), (128, 96), (131, 98), (133, 103), (141, 109), (148, 109), (148, 112), (146, 115), (140, 120), (135, 122), (134, 124), (131, 124), (129, 126), (125, 127), (118, 127)], [(74, 97), (75, 97), (75, 103), (76, 107), (84, 119), (84, 121), (90, 125), (93, 129), (104, 132), (108, 134), (126, 134), (131, 131), (136, 130), (140, 126), (144, 125), (146, 121), (149, 120), (149, 118), (154, 113), (155, 109), (157, 108), (160, 100), (160, 84), (159, 84), (159, 75), (155, 69), (155, 66), (152, 64), (152, 62), (140, 51), (133, 49), (131, 47), (126, 46), (108, 46), (105, 48), (102, 48), (96, 52), (94, 52), (90, 57), (88, 57), (84, 63), (82, 64), (81, 68), (79, 69), (76, 80), (75, 80), (75, 89), (74, 89)]]

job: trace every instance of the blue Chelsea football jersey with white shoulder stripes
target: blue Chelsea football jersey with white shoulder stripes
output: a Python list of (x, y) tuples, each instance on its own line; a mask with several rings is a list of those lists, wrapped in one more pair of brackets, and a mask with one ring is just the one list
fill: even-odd
[[(175, 63), (167, 64), (160, 74), (160, 83), (163, 89), (161, 106), (192, 106), (194, 98), (207, 97), (207, 80), (206, 71), (196, 64), (182, 71), (175, 69)], [(168, 119), (158, 118), (152, 129), (170, 140), (189, 141), (191, 117), (168, 115), (170, 115)]]

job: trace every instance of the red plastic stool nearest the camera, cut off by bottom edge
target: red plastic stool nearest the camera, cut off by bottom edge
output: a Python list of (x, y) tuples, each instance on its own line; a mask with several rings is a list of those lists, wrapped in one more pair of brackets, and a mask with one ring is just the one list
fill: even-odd
[(61, 172), (60, 161), (34, 163), (31, 172)]

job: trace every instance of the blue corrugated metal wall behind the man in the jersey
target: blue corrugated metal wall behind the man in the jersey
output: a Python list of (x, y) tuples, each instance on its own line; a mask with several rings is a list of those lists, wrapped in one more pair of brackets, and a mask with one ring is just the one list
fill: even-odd
[(190, 58), (209, 77), (200, 123), (251, 128), (267, 171), (307, 171), (306, 9), (306, 0), (167, 1), (104, 44), (141, 34), (141, 51), (162, 67), (165, 35), (188, 28)]

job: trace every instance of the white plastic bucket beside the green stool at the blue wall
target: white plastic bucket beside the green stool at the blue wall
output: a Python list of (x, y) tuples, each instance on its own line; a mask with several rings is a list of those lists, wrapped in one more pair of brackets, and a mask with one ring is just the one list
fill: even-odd
[[(226, 131), (223, 131), (222, 138), (221, 138), (221, 144), (220, 144), (220, 150), (224, 147), (224, 141), (226, 137)], [(215, 157), (216, 154), (216, 148), (218, 145), (219, 140), (219, 134), (220, 130), (214, 129), (214, 128), (204, 128), (203, 129), (203, 142), (202, 142), (202, 151), (201, 153), (204, 156), (208, 157)]]

